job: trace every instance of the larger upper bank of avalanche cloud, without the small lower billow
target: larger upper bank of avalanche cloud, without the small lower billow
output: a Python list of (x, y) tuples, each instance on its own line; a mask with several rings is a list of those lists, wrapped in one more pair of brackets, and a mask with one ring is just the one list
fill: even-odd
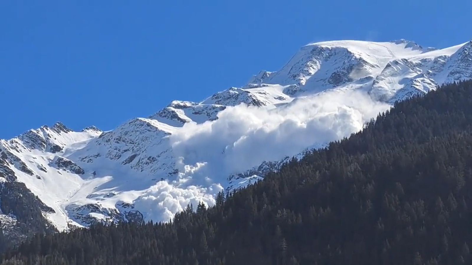
[(170, 139), (181, 165), (201, 163), (186, 174), (195, 179), (193, 183), (223, 183), (241, 168), (349, 136), (389, 107), (361, 91), (328, 91), (273, 109), (229, 107), (215, 121), (185, 124)]

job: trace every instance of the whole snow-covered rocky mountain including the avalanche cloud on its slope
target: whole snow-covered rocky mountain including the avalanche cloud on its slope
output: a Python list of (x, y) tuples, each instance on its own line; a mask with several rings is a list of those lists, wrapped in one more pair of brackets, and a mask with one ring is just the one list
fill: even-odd
[(12, 183), (37, 196), (44, 220), (59, 231), (168, 221), (188, 204), (212, 205), (218, 192), (361, 130), (397, 100), (470, 78), (472, 41), (441, 50), (405, 40), (308, 44), (241, 88), (172, 101), (108, 132), (57, 123), (0, 140), (0, 221), (13, 229), (27, 220), (11, 206), (23, 196), (11, 195)]

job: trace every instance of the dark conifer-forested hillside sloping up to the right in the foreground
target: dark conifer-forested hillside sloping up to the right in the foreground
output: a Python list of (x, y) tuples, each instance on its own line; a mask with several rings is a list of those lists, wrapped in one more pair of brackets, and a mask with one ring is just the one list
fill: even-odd
[(471, 264), (472, 82), (397, 103), (349, 139), (169, 224), (37, 235), (6, 264)]

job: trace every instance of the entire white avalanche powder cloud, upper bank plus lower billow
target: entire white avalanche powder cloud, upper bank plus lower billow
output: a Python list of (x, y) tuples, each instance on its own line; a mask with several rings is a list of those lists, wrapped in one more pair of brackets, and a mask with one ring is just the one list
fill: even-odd
[(349, 136), (390, 108), (362, 91), (327, 91), (266, 109), (240, 104), (218, 119), (170, 135), (180, 174), (134, 200), (147, 220), (168, 221), (187, 205), (214, 205), (230, 174)]

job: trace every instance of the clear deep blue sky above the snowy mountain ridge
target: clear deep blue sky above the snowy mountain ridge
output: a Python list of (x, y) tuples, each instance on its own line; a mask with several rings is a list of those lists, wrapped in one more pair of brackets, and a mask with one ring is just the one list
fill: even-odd
[(56, 121), (110, 130), (241, 86), (312, 41), (452, 46), (472, 38), (471, 10), (468, 0), (4, 0), (0, 138)]

